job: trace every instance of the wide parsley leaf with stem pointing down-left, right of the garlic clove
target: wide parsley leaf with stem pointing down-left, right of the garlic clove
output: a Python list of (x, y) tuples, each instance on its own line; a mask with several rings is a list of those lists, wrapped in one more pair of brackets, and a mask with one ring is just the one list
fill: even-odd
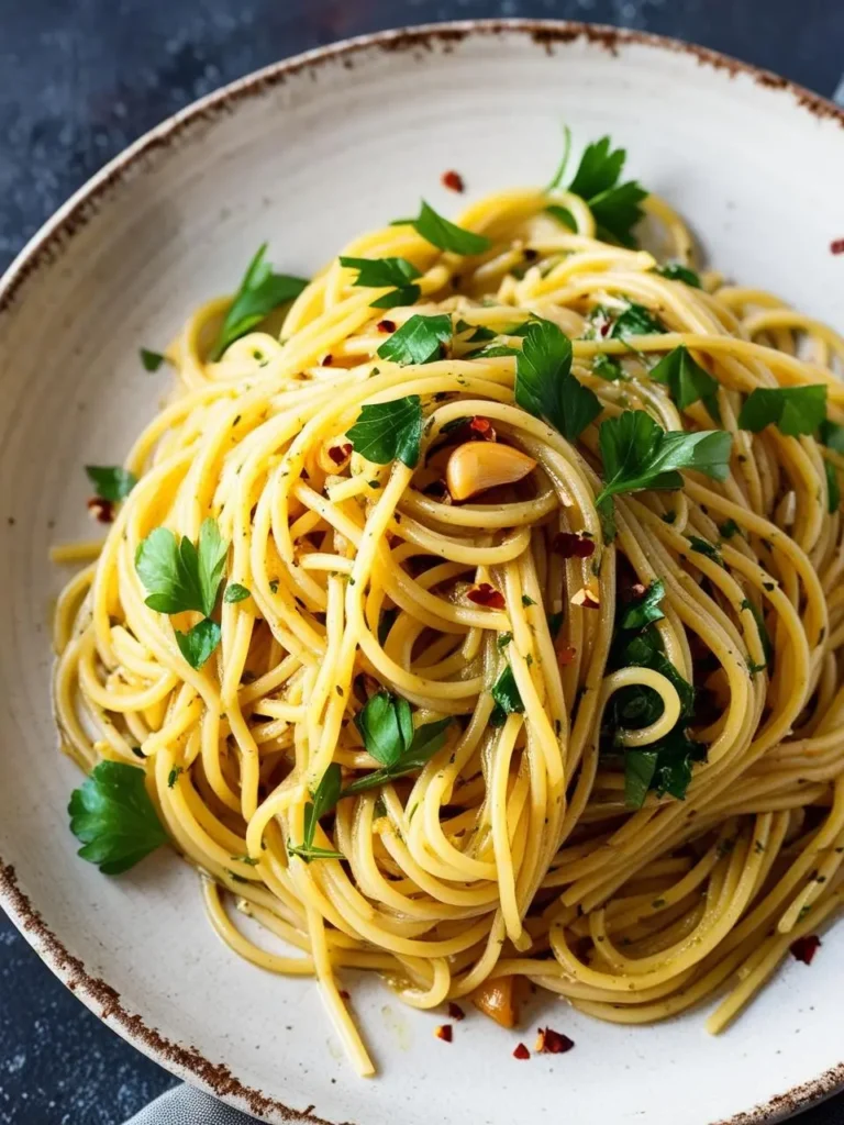
[(599, 430), (604, 486), (595, 506), (607, 513), (607, 501), (619, 493), (645, 488), (683, 487), (680, 469), (726, 480), (733, 439), (722, 430), (685, 433), (665, 431), (644, 411), (625, 411)]

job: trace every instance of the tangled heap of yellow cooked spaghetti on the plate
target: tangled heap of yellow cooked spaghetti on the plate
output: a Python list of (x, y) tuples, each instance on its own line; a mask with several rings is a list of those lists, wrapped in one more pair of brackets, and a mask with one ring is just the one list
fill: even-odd
[[(645, 208), (661, 256), (690, 267), (682, 222), (654, 197)], [(844, 897), (844, 551), (830, 511), (844, 456), (738, 424), (754, 389), (803, 386), (823, 386), (829, 422), (844, 422), (844, 341), (717, 274), (700, 288), (665, 276), (652, 253), (599, 240), (571, 194), (494, 195), (460, 225), (490, 246), (442, 252), (405, 224), (347, 249), (411, 262), (407, 306), (371, 307), (334, 260), (280, 336), (250, 332), (217, 362), (230, 302), (195, 313), (168, 352), (172, 399), (126, 460), (138, 483), (56, 616), (66, 752), (86, 771), (143, 765), (216, 932), (270, 972), (315, 976), (365, 1074), (336, 983), (347, 968), (381, 973), (417, 1008), (528, 978), (630, 1024), (722, 992), (719, 1030)], [(608, 330), (631, 304), (659, 331)], [(377, 354), (411, 316), (443, 314), (439, 357)], [(514, 402), (531, 318), (571, 338), (573, 374), (600, 399), (576, 441)], [(709, 407), (681, 408), (650, 376), (680, 345), (718, 382)], [(406, 396), (424, 418), (415, 466), (351, 450), (366, 405)], [(610, 538), (599, 428), (626, 411), (668, 432), (710, 430), (716, 412), (730, 471), (618, 495)], [(467, 438), (466, 420), (484, 424)], [(476, 438), (536, 467), (451, 502), (443, 466)], [(194, 668), (174, 628), (197, 613), (147, 605), (136, 558), (154, 529), (195, 543), (207, 518), (243, 596), (217, 606), (222, 641)], [(656, 583), (663, 662), (619, 663), (627, 608)], [(521, 709), (495, 718), (506, 669)], [(297, 853), (329, 767), (348, 785), (383, 765), (354, 722), (379, 691), (407, 701), (416, 728), (450, 719), (441, 747), (341, 795), (311, 825), (326, 854)], [(648, 721), (613, 730), (625, 692)], [(627, 755), (679, 727), (697, 748), (688, 791), (652, 783), (631, 809)], [(237, 911), (289, 952), (245, 936)]]

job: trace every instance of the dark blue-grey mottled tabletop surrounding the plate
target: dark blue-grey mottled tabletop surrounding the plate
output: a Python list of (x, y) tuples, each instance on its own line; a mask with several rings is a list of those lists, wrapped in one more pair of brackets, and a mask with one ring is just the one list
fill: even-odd
[[(107, 160), (215, 87), (349, 35), (474, 16), (675, 35), (827, 96), (844, 71), (843, 0), (0, 0), (0, 270)], [(0, 916), (0, 1125), (117, 1125), (172, 1083)], [(801, 1120), (844, 1122), (844, 1096)]]

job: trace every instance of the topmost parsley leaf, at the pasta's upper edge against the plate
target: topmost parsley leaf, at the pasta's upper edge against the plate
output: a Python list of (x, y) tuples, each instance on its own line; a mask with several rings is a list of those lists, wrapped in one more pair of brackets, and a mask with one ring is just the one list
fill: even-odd
[(648, 192), (636, 180), (618, 182), (627, 153), (610, 145), (610, 138), (602, 137), (586, 146), (568, 190), (589, 204), (600, 237), (634, 246), (632, 228), (645, 214), (640, 204)]

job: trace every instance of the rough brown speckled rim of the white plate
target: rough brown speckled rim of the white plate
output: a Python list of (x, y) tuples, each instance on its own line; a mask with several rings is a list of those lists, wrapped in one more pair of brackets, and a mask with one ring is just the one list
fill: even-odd
[[(431, 50), (437, 46), (449, 51), (470, 36), (502, 34), (522, 35), (549, 52), (557, 45), (564, 46), (585, 39), (611, 54), (616, 54), (620, 46), (636, 44), (691, 55), (700, 65), (725, 71), (730, 78), (745, 74), (758, 86), (796, 101), (807, 114), (820, 119), (832, 119), (844, 128), (844, 110), (819, 94), (771, 71), (666, 36), (599, 24), (545, 19), (459, 20), (376, 32), (306, 51), (253, 71), (191, 102), (145, 133), (91, 177), (27, 242), (0, 278), (0, 317), (18, 300), (25, 299), (29, 279), (61, 259), (73, 235), (87, 226), (108, 204), (109, 195), (115, 188), (129, 177), (143, 174), (154, 166), (156, 156), (163, 158), (182, 135), (209, 125), (223, 114), (233, 111), (244, 99), (261, 97), (267, 90), (285, 82), (288, 76), (300, 71), (317, 69), (338, 58), (345, 65), (353, 66), (357, 55), (372, 48), (396, 52), (420, 47)], [(123, 1006), (116, 989), (107, 981), (92, 976), (84, 963), (71, 954), (60, 937), (47, 926), (20, 885), (15, 867), (6, 864), (2, 856), (0, 856), (0, 906), (38, 956), (86, 1007), (177, 1078), (198, 1086), (260, 1119), (330, 1125), (313, 1113), (315, 1106), (308, 1106), (304, 1112), (290, 1109), (261, 1090), (245, 1086), (224, 1063), (212, 1062), (192, 1046), (174, 1043), (156, 1028), (150, 1027), (140, 1015), (128, 1011)], [(841, 1089), (844, 1089), (844, 1061), (808, 1082), (712, 1125), (763, 1125), (765, 1122), (781, 1120), (830, 1097)]]

